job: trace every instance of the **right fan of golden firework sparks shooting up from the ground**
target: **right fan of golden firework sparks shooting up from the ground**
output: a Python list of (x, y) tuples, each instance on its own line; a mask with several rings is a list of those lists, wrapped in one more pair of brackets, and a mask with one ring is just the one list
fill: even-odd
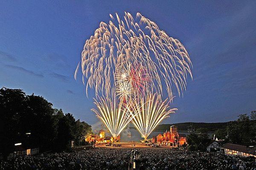
[(162, 102), (161, 96), (149, 94), (139, 96), (130, 107), (130, 112), (135, 113), (131, 120), (144, 139), (147, 139), (154, 128), (170, 113), (177, 109), (170, 108), (167, 99)]

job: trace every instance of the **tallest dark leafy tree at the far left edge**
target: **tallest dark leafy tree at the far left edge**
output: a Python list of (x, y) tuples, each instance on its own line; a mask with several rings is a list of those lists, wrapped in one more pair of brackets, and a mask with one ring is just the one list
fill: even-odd
[(20, 89), (0, 89), (0, 152), (6, 158), (19, 141), (20, 117), (26, 113), (25, 93)]

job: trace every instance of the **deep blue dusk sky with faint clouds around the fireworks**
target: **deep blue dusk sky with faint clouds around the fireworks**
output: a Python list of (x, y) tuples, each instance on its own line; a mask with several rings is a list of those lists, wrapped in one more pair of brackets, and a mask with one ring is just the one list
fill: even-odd
[(186, 47), (193, 80), (162, 123), (226, 122), (256, 110), (256, 1), (0, 1), (0, 87), (44, 96), (89, 124), (94, 94), (74, 72), (109, 14), (157, 23)]

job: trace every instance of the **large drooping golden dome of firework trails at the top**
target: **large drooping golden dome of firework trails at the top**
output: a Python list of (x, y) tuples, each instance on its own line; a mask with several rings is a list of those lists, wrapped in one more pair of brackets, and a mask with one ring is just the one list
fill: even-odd
[(81, 70), (86, 89), (95, 88), (96, 94), (109, 96), (115, 85), (114, 76), (122, 63), (137, 62), (152, 75), (151, 85), (144, 89), (146, 93), (162, 94), (164, 84), (172, 99), (173, 83), (180, 96), (186, 90), (187, 74), (192, 77), (192, 63), (180, 41), (169, 37), (140, 13), (135, 20), (127, 12), (124, 20), (117, 14), (116, 17), (110, 14), (110, 17), (112, 20), (108, 24), (101, 22), (84, 45)]

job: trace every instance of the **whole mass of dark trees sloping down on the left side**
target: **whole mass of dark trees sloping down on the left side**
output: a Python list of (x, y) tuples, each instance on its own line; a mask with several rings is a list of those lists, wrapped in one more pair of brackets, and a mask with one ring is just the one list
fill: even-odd
[(20, 89), (0, 89), (0, 153), (7, 156), (15, 143), (23, 147), (40, 147), (41, 151), (69, 150), (71, 141), (83, 144), (92, 133), (86, 122), (72, 113), (52, 108), (42, 96), (26, 95)]

